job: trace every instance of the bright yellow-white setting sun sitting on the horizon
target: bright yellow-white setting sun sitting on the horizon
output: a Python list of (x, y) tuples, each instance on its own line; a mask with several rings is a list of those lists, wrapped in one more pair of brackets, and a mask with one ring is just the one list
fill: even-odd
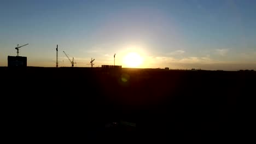
[(136, 52), (130, 52), (124, 57), (126, 67), (136, 68), (143, 62), (143, 58)]

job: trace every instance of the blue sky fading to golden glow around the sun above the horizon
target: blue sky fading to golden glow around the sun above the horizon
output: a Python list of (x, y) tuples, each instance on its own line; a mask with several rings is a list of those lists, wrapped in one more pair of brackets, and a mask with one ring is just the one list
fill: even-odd
[(0, 66), (7, 56), (28, 65), (77, 67), (123, 61), (139, 68), (256, 69), (256, 1), (1, 1)]

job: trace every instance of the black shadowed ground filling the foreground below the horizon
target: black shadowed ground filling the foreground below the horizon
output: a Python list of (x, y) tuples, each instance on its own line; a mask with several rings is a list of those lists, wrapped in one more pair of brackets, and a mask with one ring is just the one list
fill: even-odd
[(0, 76), (2, 131), (9, 141), (253, 136), (255, 71), (2, 67)]

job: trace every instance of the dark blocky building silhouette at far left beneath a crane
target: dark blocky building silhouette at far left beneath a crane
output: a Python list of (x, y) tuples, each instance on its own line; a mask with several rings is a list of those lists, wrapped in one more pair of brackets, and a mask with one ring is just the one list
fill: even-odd
[(27, 57), (8, 56), (8, 67), (27, 67)]

